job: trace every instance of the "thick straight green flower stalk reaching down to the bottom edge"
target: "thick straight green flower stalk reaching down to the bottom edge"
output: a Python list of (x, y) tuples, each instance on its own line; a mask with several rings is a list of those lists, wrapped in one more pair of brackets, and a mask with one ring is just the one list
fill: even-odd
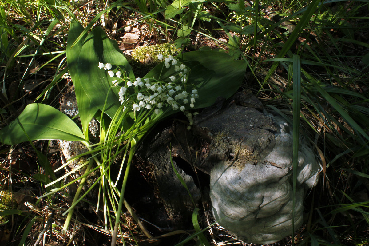
[(127, 180), (128, 180), (128, 174), (130, 172), (132, 158), (133, 158), (133, 155), (135, 154), (135, 148), (136, 148), (136, 141), (135, 141), (135, 139), (132, 139), (130, 155), (128, 156), (127, 168), (125, 169), (123, 184), (122, 184), (122, 188), (121, 188), (121, 191), (120, 191), (117, 215), (115, 216), (115, 225), (114, 225), (113, 237), (111, 239), (111, 246), (115, 246), (117, 244), (117, 234), (118, 234), (118, 228), (119, 228), (119, 220), (120, 220), (120, 214), (121, 214), (122, 207), (123, 207), (123, 202), (124, 202), (124, 191), (125, 191), (125, 186), (126, 186)]

